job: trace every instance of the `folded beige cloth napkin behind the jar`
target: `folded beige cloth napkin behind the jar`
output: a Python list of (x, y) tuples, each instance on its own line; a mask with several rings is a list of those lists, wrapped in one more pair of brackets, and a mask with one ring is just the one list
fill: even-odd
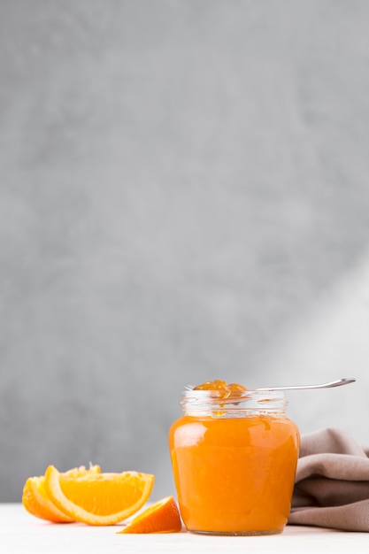
[(368, 456), (340, 429), (303, 435), (288, 523), (369, 532)]

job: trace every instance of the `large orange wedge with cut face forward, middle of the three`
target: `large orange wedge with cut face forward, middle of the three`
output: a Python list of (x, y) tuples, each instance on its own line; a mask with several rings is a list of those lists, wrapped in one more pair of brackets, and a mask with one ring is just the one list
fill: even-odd
[(86, 473), (70, 477), (49, 466), (45, 489), (50, 500), (69, 518), (88, 525), (114, 525), (142, 508), (151, 494), (149, 473)]

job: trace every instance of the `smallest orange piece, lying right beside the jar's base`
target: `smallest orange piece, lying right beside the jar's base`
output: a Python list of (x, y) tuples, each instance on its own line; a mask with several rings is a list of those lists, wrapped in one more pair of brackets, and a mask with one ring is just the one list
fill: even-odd
[(181, 531), (181, 516), (173, 496), (158, 500), (132, 519), (121, 533), (177, 533)]

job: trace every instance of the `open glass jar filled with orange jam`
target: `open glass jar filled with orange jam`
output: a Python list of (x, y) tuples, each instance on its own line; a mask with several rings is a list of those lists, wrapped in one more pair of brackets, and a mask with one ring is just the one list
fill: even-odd
[(287, 523), (299, 448), (281, 391), (211, 381), (182, 393), (169, 448), (188, 531), (272, 535)]

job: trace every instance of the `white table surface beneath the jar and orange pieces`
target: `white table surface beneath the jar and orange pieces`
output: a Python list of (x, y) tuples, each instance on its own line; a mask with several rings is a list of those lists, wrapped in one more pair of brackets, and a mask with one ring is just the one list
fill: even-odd
[(52, 524), (28, 514), (21, 504), (0, 504), (2, 554), (114, 554), (125, 552), (357, 552), (369, 553), (369, 533), (346, 533), (319, 527), (288, 526), (282, 535), (205, 536), (185, 531), (166, 535), (117, 535), (119, 526), (89, 527), (80, 523)]

